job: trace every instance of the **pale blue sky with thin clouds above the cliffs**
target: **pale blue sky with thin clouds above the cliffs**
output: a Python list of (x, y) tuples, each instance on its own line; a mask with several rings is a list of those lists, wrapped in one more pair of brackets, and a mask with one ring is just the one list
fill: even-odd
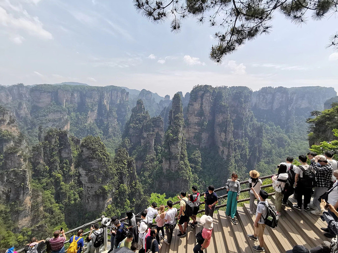
[(275, 13), (272, 31), (222, 64), (209, 59), (219, 27), (191, 17), (181, 31), (154, 24), (132, 0), (0, 0), (0, 84), (82, 82), (170, 97), (195, 85), (326, 86), (338, 91), (338, 18), (297, 25)]

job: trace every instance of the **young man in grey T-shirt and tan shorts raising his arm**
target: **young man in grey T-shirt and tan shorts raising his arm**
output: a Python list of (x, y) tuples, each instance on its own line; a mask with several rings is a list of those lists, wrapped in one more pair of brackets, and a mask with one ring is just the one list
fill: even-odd
[[(259, 190), (259, 194), (252, 188), (254, 196), (259, 199), (259, 204), (257, 205), (256, 219), (254, 220), (254, 234), (247, 235), (248, 238), (259, 241), (259, 245), (254, 246), (253, 249), (257, 252), (264, 252), (264, 229), (265, 229), (265, 219), (267, 218), (268, 213), (268, 202), (267, 198), (269, 194), (265, 190)], [(266, 217), (264, 219), (264, 217)]]

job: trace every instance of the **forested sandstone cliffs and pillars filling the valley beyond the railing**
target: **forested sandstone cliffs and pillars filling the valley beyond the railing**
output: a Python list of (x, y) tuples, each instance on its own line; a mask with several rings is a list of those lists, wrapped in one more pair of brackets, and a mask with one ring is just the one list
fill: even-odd
[(287, 155), (308, 151), (306, 119), (337, 95), (325, 87), (208, 85), (172, 100), (152, 94), (0, 86), (1, 247), (61, 223), (138, 212), (152, 192), (221, 187), (232, 171), (240, 179), (252, 169), (274, 172)]

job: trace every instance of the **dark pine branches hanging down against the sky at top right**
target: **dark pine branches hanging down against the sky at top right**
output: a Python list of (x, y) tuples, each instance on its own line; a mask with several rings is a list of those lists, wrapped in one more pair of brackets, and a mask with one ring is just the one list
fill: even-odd
[[(171, 31), (181, 28), (181, 19), (189, 15), (201, 23), (208, 21), (222, 31), (215, 34), (218, 44), (212, 46), (210, 59), (219, 63), (246, 41), (262, 33), (269, 33), (275, 10), (295, 23), (304, 23), (306, 13), (321, 19), (338, 11), (338, 0), (134, 0), (135, 7), (155, 23), (171, 18)], [(338, 48), (338, 33), (330, 46)]]

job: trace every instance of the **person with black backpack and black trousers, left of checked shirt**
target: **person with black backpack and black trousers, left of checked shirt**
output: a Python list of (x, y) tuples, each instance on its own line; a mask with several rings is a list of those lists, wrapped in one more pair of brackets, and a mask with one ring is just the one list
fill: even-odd
[(308, 204), (311, 200), (312, 189), (316, 184), (316, 171), (311, 165), (306, 163), (308, 158), (305, 155), (300, 155), (298, 159), (301, 165), (295, 169), (295, 193), (297, 193), (297, 204), (294, 204), (293, 207), (301, 211), (304, 196), (303, 209), (308, 211), (310, 210)]

